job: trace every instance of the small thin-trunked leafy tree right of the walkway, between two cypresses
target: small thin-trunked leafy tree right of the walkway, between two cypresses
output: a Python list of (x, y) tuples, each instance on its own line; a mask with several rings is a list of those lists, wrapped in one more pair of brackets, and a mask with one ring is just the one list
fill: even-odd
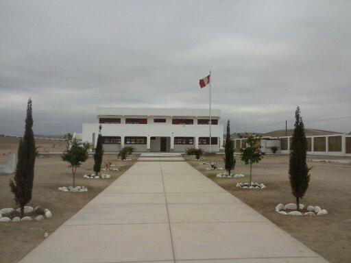
[(250, 184), (252, 183), (252, 164), (260, 162), (263, 158), (261, 146), (257, 145), (256, 140), (254, 136), (246, 138), (247, 147), (240, 149), (241, 160), (245, 165), (250, 164)]

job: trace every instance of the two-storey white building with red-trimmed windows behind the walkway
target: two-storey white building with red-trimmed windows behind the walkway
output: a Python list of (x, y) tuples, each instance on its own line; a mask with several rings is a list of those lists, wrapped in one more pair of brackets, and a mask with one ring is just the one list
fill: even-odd
[[(106, 152), (133, 146), (136, 152), (210, 150), (209, 110), (169, 108), (97, 108), (95, 123), (84, 123), (82, 140), (95, 147), (99, 125)], [(211, 151), (223, 144), (221, 110), (211, 110)]]

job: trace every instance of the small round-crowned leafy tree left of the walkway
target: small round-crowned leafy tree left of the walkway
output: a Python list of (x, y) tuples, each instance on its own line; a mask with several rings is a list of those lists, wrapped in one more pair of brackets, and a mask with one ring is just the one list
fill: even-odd
[(80, 143), (73, 138), (67, 143), (66, 151), (62, 154), (62, 160), (68, 162), (72, 168), (73, 187), (75, 187), (75, 172), (77, 168), (88, 159), (88, 145)]

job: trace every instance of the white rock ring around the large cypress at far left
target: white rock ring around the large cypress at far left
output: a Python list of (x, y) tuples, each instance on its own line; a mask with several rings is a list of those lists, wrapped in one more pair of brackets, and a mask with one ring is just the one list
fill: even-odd
[[(17, 212), (19, 212), (20, 210), (21, 208), (16, 209)], [(3, 208), (0, 210), (0, 222), (22, 222), (22, 221), (32, 221), (32, 220), (40, 221), (45, 218), (50, 218), (52, 216), (52, 213), (49, 209), (45, 208), (45, 210), (43, 210), (39, 206), (37, 206), (36, 208), (32, 208), (32, 206), (25, 205), (25, 210), (24, 210), (25, 214), (30, 214), (36, 211), (40, 211), (40, 214), (37, 214), (36, 216), (33, 216), (33, 217), (23, 216), (22, 218), (20, 218), (19, 216), (14, 216), (14, 218), (12, 218), (11, 220), (11, 218), (7, 217), (7, 215), (14, 212), (14, 208)]]

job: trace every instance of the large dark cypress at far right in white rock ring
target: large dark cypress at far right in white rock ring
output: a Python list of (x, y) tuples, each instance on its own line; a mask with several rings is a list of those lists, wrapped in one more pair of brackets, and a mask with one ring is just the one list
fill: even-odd
[(304, 123), (300, 115), (300, 107), (295, 111), (295, 129), (291, 137), (289, 179), (293, 196), (296, 198), (298, 210), (300, 208), (300, 198), (308, 188), (310, 181), (309, 169), (306, 164), (307, 140), (304, 132)]

